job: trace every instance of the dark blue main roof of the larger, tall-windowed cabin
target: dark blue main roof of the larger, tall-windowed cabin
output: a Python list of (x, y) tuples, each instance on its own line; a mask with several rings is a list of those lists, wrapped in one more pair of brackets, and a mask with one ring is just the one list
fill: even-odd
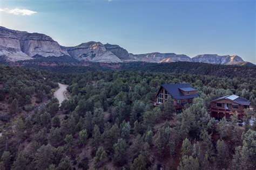
[[(181, 93), (181, 91), (179, 89), (186, 89), (186, 88), (191, 88), (194, 91), (196, 89), (192, 88), (190, 86), (190, 84), (188, 83), (180, 83), (180, 84), (163, 84), (161, 87), (163, 87), (166, 91), (168, 91), (168, 93), (176, 100), (183, 100), (183, 99), (187, 99), (187, 98), (194, 98), (194, 97), (198, 97), (198, 94), (195, 95), (184, 95), (183, 93)], [(160, 89), (159, 89), (160, 90)], [(159, 94), (159, 91), (158, 93)]]

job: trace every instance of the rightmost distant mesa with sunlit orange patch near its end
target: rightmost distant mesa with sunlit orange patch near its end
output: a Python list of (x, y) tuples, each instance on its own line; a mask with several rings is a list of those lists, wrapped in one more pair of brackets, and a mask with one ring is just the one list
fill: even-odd
[(192, 58), (193, 62), (212, 63), (217, 65), (236, 65), (244, 62), (240, 56), (237, 55), (217, 55), (217, 54), (202, 54)]

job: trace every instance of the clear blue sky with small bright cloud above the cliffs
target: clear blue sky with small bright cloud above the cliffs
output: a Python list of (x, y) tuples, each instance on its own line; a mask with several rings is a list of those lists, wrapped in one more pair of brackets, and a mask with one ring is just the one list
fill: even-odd
[(255, 0), (0, 0), (0, 25), (63, 46), (100, 41), (133, 54), (239, 55), (256, 63)]

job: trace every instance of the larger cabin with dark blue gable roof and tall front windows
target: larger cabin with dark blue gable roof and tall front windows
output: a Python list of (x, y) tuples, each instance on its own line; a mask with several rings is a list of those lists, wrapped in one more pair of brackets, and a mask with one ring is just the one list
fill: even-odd
[(193, 98), (198, 97), (197, 90), (188, 83), (181, 84), (163, 84), (156, 95), (154, 105), (165, 103), (171, 97), (177, 112), (184, 108), (186, 103), (192, 103)]

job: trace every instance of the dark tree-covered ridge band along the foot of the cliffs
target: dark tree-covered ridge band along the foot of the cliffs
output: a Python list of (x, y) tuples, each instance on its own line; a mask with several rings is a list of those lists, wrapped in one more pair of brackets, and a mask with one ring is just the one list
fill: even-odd
[[(1, 63), (1, 61), (0, 61)], [(213, 65), (200, 62), (124, 62), (124, 63), (96, 63), (84, 62), (69, 57), (40, 58), (18, 61), (16, 65), (30, 68), (45, 69), (59, 73), (84, 73), (86, 71), (127, 70), (140, 72), (160, 72), (177, 74), (211, 75), (218, 77), (253, 77), (256, 78), (255, 65)]]

